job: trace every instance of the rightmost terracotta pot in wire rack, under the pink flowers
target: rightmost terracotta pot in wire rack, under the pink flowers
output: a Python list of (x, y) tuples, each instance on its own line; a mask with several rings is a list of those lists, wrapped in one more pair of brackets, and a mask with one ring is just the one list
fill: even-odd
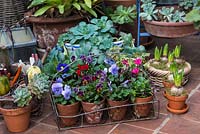
[[(149, 96), (147, 98), (136, 98), (135, 103), (146, 103), (153, 100), (153, 96)], [(137, 104), (134, 106), (134, 113), (137, 117), (146, 117), (150, 114), (151, 109), (153, 107), (152, 103), (148, 104)]]

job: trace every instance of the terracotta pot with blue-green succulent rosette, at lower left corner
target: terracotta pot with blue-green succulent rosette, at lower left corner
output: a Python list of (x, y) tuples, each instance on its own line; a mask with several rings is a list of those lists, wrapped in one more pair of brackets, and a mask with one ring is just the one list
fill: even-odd
[(12, 101), (2, 102), (0, 107), (6, 126), (10, 132), (26, 131), (30, 122), (31, 92), (28, 87), (20, 85), (12, 97)]

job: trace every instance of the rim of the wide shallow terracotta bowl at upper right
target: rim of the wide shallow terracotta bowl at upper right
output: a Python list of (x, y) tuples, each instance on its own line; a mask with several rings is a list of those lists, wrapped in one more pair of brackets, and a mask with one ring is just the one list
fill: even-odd
[(145, 20), (143, 20), (143, 22), (150, 25), (159, 25), (165, 27), (168, 26), (182, 27), (182, 26), (193, 25), (192, 22), (161, 22), (161, 21), (145, 21)]

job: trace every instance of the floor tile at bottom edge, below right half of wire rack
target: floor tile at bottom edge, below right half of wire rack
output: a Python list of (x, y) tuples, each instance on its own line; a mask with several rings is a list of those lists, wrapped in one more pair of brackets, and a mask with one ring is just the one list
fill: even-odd
[(130, 125), (120, 124), (111, 134), (152, 134), (153, 131), (137, 128)]

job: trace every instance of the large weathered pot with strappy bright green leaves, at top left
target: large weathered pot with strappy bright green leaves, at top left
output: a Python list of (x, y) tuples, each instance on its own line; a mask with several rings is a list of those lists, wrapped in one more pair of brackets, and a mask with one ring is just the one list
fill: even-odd
[(83, 20), (86, 14), (97, 17), (95, 9), (100, 7), (100, 2), (99, 0), (33, 0), (28, 6), (28, 9), (32, 9), (26, 16), (28, 16), (27, 21), (33, 23), (33, 32), (39, 48), (53, 48), (59, 34)]

